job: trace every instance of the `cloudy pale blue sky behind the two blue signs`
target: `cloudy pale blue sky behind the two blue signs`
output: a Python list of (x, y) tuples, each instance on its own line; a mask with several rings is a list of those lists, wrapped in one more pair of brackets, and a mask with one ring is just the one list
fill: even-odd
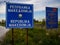
[(0, 0), (0, 20), (6, 19), (6, 2), (26, 3), (34, 5), (34, 19), (42, 21), (46, 17), (46, 7), (58, 8), (58, 19), (60, 19), (60, 0)]

